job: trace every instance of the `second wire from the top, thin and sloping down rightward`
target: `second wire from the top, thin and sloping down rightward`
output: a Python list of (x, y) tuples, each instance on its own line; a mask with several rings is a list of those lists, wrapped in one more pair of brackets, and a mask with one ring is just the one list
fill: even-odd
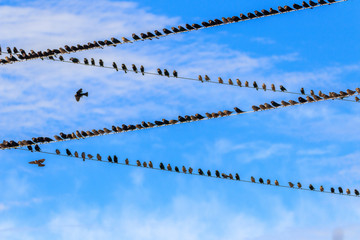
[[(112, 70), (116, 70), (114, 67), (110, 67), (110, 66), (100, 66), (100, 65), (96, 65), (96, 64), (86, 64), (86, 63), (83, 63), (83, 62), (80, 62), (79, 59), (79, 62), (72, 62), (70, 60), (59, 60), (59, 59), (55, 59), (55, 58), (46, 58), (46, 59), (50, 59), (50, 60), (53, 60), (53, 61), (57, 61), (57, 62), (65, 62), (65, 63), (71, 63), (71, 64), (79, 64), (79, 65), (83, 65), (83, 66), (90, 66), (90, 67), (98, 67), (98, 68), (107, 68), (107, 69), (112, 69)], [(93, 58), (92, 58), (93, 59)], [(118, 68), (120, 71), (124, 71), (122, 70), (121, 68)], [(294, 94), (294, 95), (299, 95), (299, 96), (312, 96), (310, 94), (301, 94), (301, 93), (298, 93), (298, 92), (291, 92), (291, 91), (281, 91), (281, 90), (277, 90), (277, 89), (270, 89), (270, 88), (265, 88), (263, 89), (261, 86), (258, 87), (258, 88), (255, 88), (255, 87), (252, 87), (252, 86), (245, 86), (243, 85), (244, 83), (241, 83), (242, 85), (239, 86), (237, 83), (236, 83), (236, 80), (234, 80), (234, 82), (232, 84), (230, 83), (227, 83), (227, 82), (215, 82), (215, 81), (212, 81), (211, 79), (210, 80), (205, 80), (205, 79), (202, 79), (201, 81), (199, 79), (196, 79), (196, 78), (190, 78), (190, 77), (181, 77), (181, 76), (174, 76), (174, 75), (169, 75), (169, 76), (165, 76), (164, 74), (159, 74), (159, 73), (154, 73), (154, 72), (140, 72), (139, 70), (137, 71), (134, 71), (132, 69), (126, 69), (126, 71), (128, 72), (133, 72), (133, 73), (136, 73), (136, 74), (141, 74), (141, 73), (144, 73), (144, 74), (147, 74), (147, 75), (155, 75), (155, 76), (161, 76), (161, 77), (167, 77), (167, 78), (178, 78), (178, 79), (184, 79), (184, 80), (191, 80), (191, 81), (195, 81), (195, 82), (201, 82), (201, 83), (213, 83), (213, 84), (219, 84), (219, 85), (227, 85), (227, 86), (232, 86), (232, 87), (244, 87), (244, 88), (250, 88), (250, 89), (256, 89), (256, 90), (263, 90), (263, 91), (269, 91), (269, 92), (278, 92), (278, 93), (288, 93), (288, 94)], [(200, 75), (199, 75), (200, 76)], [(201, 76), (203, 77), (203, 76)], [(233, 81), (232, 79), (229, 79), (231, 81)], [(347, 96), (349, 97), (349, 96)], [(354, 100), (349, 100), (349, 99), (336, 99), (336, 100), (342, 100), (342, 101), (347, 101), (347, 102), (356, 102), (358, 103), (357, 101), (354, 101)]]

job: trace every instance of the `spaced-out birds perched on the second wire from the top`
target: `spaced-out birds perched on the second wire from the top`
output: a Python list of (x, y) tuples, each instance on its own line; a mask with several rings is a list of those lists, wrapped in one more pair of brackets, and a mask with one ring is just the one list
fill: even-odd
[[(55, 58), (51, 58), (52, 60), (57, 60)], [(90, 60), (88, 58), (84, 58), (83, 61), (80, 61), (78, 58), (70, 58), (69, 61), (66, 61), (62, 56), (59, 56), (59, 60), (61, 62), (68, 62), (68, 63), (75, 63), (75, 64), (82, 64), (82, 65), (88, 65), (88, 66), (95, 66), (95, 67), (104, 67), (104, 68), (109, 68), (109, 69), (115, 69), (116, 71), (122, 70), (125, 73), (127, 72), (134, 72), (134, 73), (141, 73), (142, 75), (145, 74), (150, 74), (150, 75), (158, 75), (158, 76), (164, 76), (164, 77), (173, 77), (173, 78), (180, 78), (180, 79), (185, 79), (185, 80), (193, 80), (193, 81), (200, 81), (202, 83), (206, 82), (206, 83), (217, 83), (217, 84), (224, 84), (224, 85), (230, 85), (230, 86), (238, 86), (238, 87), (245, 87), (245, 88), (252, 88), (252, 89), (256, 89), (256, 90), (264, 90), (264, 91), (273, 91), (273, 92), (283, 92), (283, 93), (291, 93), (291, 94), (298, 94), (298, 95), (308, 95), (307, 93), (305, 93), (304, 88), (300, 89), (300, 92), (289, 92), (283, 85), (279, 86), (279, 89), (277, 89), (275, 87), (275, 84), (271, 84), (270, 88), (263, 83), (262, 85), (258, 84), (256, 81), (254, 81), (252, 84), (249, 83), (249, 81), (245, 81), (242, 82), (239, 78), (237, 78), (236, 80), (232, 80), (231, 78), (229, 78), (227, 81), (223, 80), (223, 78), (218, 77), (217, 81), (213, 81), (208, 75), (199, 75), (198, 78), (190, 78), (190, 77), (183, 77), (183, 76), (179, 76), (178, 71), (173, 70), (172, 74), (170, 73), (171, 71), (167, 70), (167, 69), (160, 69), (158, 68), (155, 72), (147, 72), (145, 71), (145, 67), (143, 65), (140, 66), (140, 68), (138, 68), (135, 64), (131, 64), (131, 67), (128, 67), (126, 64), (122, 63), (121, 65), (118, 66), (118, 64), (116, 62), (112, 63), (112, 67), (106, 66), (104, 65), (104, 61), (102, 59), (99, 59), (98, 61), (98, 65), (96, 64), (94, 58), (91, 58)], [(360, 91), (360, 90), (359, 90)], [(351, 94), (345, 93), (345, 92), (340, 92), (340, 94), (343, 96), (340, 98), (340, 100), (344, 100), (344, 98), (346, 97), (350, 97)], [(315, 97), (315, 93), (313, 90), (310, 90), (310, 95)], [(322, 91), (319, 91), (319, 96), (327, 98), (326, 94), (323, 94)], [(315, 97), (316, 98), (316, 97)], [(353, 100), (348, 100), (346, 99), (346, 101), (353, 101)], [(359, 102), (359, 98), (355, 97), (355, 101)]]

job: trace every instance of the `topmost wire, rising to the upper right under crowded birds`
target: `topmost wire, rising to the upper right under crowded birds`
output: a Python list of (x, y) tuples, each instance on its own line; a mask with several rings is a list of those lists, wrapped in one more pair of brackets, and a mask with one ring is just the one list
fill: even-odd
[[(264, 17), (268, 17), (268, 16), (275, 16), (275, 15), (280, 15), (280, 14), (284, 14), (284, 13), (289, 13), (289, 12), (296, 12), (296, 11), (300, 11), (300, 10), (305, 10), (305, 9), (313, 9), (313, 8), (316, 8), (316, 7), (321, 7), (321, 6), (326, 6), (326, 5), (332, 5), (334, 3), (341, 3), (341, 2), (346, 2), (347, 0), (340, 0), (340, 1), (335, 1), (334, 2), (327, 2), (327, 3), (323, 3), (323, 4), (316, 4), (315, 6), (309, 6), (308, 7), (302, 7), (300, 5), (297, 5), (298, 7), (300, 7), (299, 9), (296, 9), (295, 7), (294, 8), (290, 8), (287, 6), (284, 6), (281, 7), (279, 6), (278, 8), (282, 9), (281, 11), (277, 11), (277, 10), (273, 10), (272, 13), (269, 13), (269, 11), (266, 10), (266, 14), (265, 13), (261, 13), (260, 11), (255, 11), (256, 15), (254, 15), (253, 13), (248, 13), (248, 17), (246, 17), (245, 15), (241, 14), (240, 15), (240, 18), (237, 17), (237, 16), (234, 16), (236, 17), (236, 20), (227, 20), (227, 22), (225, 21), (220, 21), (218, 19), (216, 19), (217, 21), (212, 21), (212, 20), (209, 20), (209, 21), (212, 21), (214, 22), (214, 24), (208, 24), (207, 25), (203, 25), (203, 26), (200, 26), (198, 25), (199, 27), (198, 28), (195, 28), (195, 27), (192, 27), (192, 29), (185, 29), (183, 28), (183, 30), (177, 30), (177, 32), (171, 32), (170, 30), (168, 30), (169, 32), (168, 33), (165, 33), (164, 34), (161, 34), (161, 35), (154, 35), (152, 34), (153, 36), (147, 36), (146, 38), (139, 38), (139, 39), (134, 39), (134, 40), (128, 40), (126, 38), (123, 38), (123, 42), (119, 41), (118, 39), (116, 39), (116, 43), (114, 43), (114, 40), (113, 42), (109, 41), (109, 40), (104, 40), (104, 41), (98, 41), (98, 42), (101, 42), (103, 44), (99, 45), (99, 43), (97, 43), (98, 46), (92, 46), (91, 48), (89, 47), (86, 47), (84, 48), (84, 46), (87, 46), (86, 44), (85, 45), (78, 45), (78, 46), (81, 46), (83, 49), (78, 49), (75, 47), (76, 50), (64, 50), (63, 52), (53, 52), (55, 49), (53, 50), (50, 50), (48, 49), (47, 51), (43, 51), (41, 53), (41, 55), (44, 54), (43, 57), (48, 57), (48, 56), (55, 56), (57, 54), (67, 54), (67, 53), (72, 53), (72, 52), (79, 52), (79, 51), (87, 51), (87, 50), (91, 50), (91, 49), (96, 49), (96, 48), (104, 48), (104, 47), (107, 47), (107, 46), (117, 46), (119, 44), (124, 44), (124, 43), (134, 43), (134, 42), (138, 42), (138, 41), (144, 41), (144, 40), (152, 40), (152, 39), (159, 39), (161, 37), (165, 37), (165, 36), (169, 36), (169, 35), (173, 35), (173, 34), (178, 34), (178, 33), (184, 33), (184, 32), (190, 32), (190, 31), (195, 31), (195, 30), (200, 30), (200, 29), (205, 29), (205, 28), (210, 28), (210, 27), (216, 27), (216, 26), (222, 26), (222, 25), (227, 25), (227, 24), (231, 24), (231, 23), (238, 23), (238, 22), (244, 22), (244, 21), (248, 21), (248, 20), (253, 20), (253, 19), (259, 19), (259, 18), (264, 18)], [(264, 9), (263, 9), (264, 10)], [(230, 18), (230, 19), (234, 19), (234, 17)], [(229, 18), (228, 18), (229, 19)], [(203, 22), (204, 23), (204, 22)], [(149, 32), (148, 32), (149, 33)], [(126, 39), (126, 40), (124, 40)], [(105, 41), (108, 42), (108, 44), (105, 43)], [(94, 41), (96, 42), (96, 41)], [(60, 48), (59, 48), (60, 49)], [(49, 51), (50, 50), (50, 51)], [(58, 49), (56, 49), (57, 51), (59, 51)], [(39, 53), (39, 52), (38, 52)], [(26, 55), (26, 54), (25, 54)], [(21, 56), (21, 55), (18, 55), (18, 57)], [(37, 59), (37, 58), (41, 58), (42, 56), (37, 56), (36, 53), (35, 55), (34, 54), (31, 54), (29, 53), (28, 57), (26, 56), (23, 56), (24, 59), (11, 59), (11, 58), (5, 58), (5, 59), (0, 59), (0, 63), (1, 64), (9, 64), (9, 63), (14, 63), (14, 62), (22, 62), (22, 61), (27, 61), (27, 60), (32, 60), (32, 59)]]

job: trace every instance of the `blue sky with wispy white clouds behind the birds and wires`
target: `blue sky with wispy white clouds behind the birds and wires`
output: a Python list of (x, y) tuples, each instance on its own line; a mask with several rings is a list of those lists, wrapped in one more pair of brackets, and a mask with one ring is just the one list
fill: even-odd
[[(291, 1), (0, 1), (1, 46), (56, 48), (239, 15)], [(74, 56), (291, 91), (359, 86), (355, 0)], [(68, 57), (68, 56), (67, 56)], [(53, 136), (292, 95), (41, 60), (1, 66), (3, 139)], [(82, 87), (89, 98), (73, 95)], [(244, 179), (360, 188), (359, 105), (326, 101), (43, 145)], [(357, 198), (1, 151), (0, 239), (358, 239)], [(27, 162), (46, 158), (46, 167)]]

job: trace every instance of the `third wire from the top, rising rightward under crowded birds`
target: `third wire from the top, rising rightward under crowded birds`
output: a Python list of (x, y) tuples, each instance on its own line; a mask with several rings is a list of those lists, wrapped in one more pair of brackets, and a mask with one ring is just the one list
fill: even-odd
[[(354, 94), (354, 95), (359, 95), (359, 93), (357, 93), (357, 94)], [(321, 100), (318, 100), (318, 101), (314, 101), (314, 102), (305, 102), (305, 103), (296, 103), (296, 104), (294, 104), (294, 105), (286, 105), (286, 106), (284, 106), (284, 105), (281, 105), (281, 106), (277, 106), (277, 107), (271, 107), (270, 109), (266, 109), (266, 110), (275, 110), (275, 109), (280, 109), (280, 108), (284, 108), (284, 107), (290, 107), (290, 106), (296, 106), (296, 105), (303, 105), (303, 104), (307, 104), (307, 103), (315, 103), (315, 102), (321, 102), (321, 101), (328, 101), (328, 100), (332, 100), (332, 99), (336, 99), (336, 98), (340, 98), (341, 96), (338, 96), (338, 97), (331, 97), (331, 98), (328, 98), (328, 99), (321, 99)], [(292, 101), (292, 100), (289, 100), (289, 102), (290, 101)], [(289, 103), (288, 103), (289, 104)], [(235, 109), (235, 108), (234, 108)], [(240, 110), (240, 109), (238, 109), (238, 110)], [(153, 126), (148, 126), (148, 127), (141, 127), (141, 128), (139, 128), (139, 127), (137, 127), (137, 125), (141, 125), (141, 124), (137, 124), (137, 125), (131, 125), (131, 126), (134, 126), (135, 128), (132, 128), (132, 129), (129, 129), (128, 128), (128, 126), (126, 126), (125, 124), (125, 126), (127, 127), (127, 129), (124, 129), (124, 127), (123, 128), (120, 128), (119, 127), (119, 129), (121, 129), (121, 131), (118, 129), (118, 128), (116, 128), (116, 131), (111, 131), (111, 130), (109, 130), (109, 129), (107, 129), (107, 131), (108, 132), (104, 132), (104, 133), (97, 133), (97, 134), (93, 134), (92, 132), (92, 134), (93, 135), (88, 135), (88, 134), (86, 134), (86, 136), (84, 136), (84, 134), (82, 134), (82, 137), (79, 137), (79, 136), (75, 136), (75, 138), (63, 138), (63, 139), (61, 139), (61, 140), (49, 140), (49, 141), (45, 141), (45, 142), (37, 142), (37, 143), (34, 143), (34, 142), (32, 142), (31, 144), (30, 143), (28, 143), (28, 144), (23, 144), (24, 146), (32, 146), (32, 145), (40, 145), (40, 144), (48, 144), (48, 143), (54, 143), (54, 142), (62, 142), (62, 141), (70, 141), (70, 140), (75, 140), (75, 139), (77, 139), (77, 140), (79, 140), (79, 139), (85, 139), (85, 138), (90, 138), (90, 137), (97, 137), (97, 136), (103, 136), (103, 135), (110, 135), (110, 134), (119, 134), (119, 133), (124, 133), (124, 132), (132, 132), (132, 131), (138, 131), (138, 130), (145, 130), (145, 129), (149, 129), (149, 128), (158, 128), (158, 127), (164, 127), (164, 126), (171, 126), (171, 125), (177, 125), (177, 124), (184, 124), (184, 123), (190, 123), (190, 122), (198, 122), (198, 121), (204, 121), (204, 120), (210, 120), (210, 119), (215, 119), (215, 118), (221, 118), (221, 117), (230, 117), (230, 116), (236, 116), (236, 115), (240, 115), (240, 114), (245, 114), (245, 113), (254, 113), (254, 112), (262, 112), (262, 111), (266, 111), (266, 110), (253, 110), (253, 111), (241, 111), (241, 112), (236, 112), (236, 110), (235, 110), (235, 112), (231, 112), (231, 113), (229, 113), (229, 114), (224, 114), (224, 112), (222, 112), (224, 115), (223, 116), (221, 116), (221, 115), (217, 115), (216, 117), (214, 117), (214, 115), (212, 116), (212, 117), (203, 117), (202, 119), (196, 119), (196, 120), (194, 120), (194, 119), (190, 119), (190, 120), (186, 120), (186, 121), (177, 121), (177, 122), (175, 122), (175, 123), (171, 123), (171, 124), (165, 124), (165, 123), (163, 123), (162, 125), (156, 125), (156, 124), (153, 124)], [(220, 112), (220, 111), (219, 111)], [(187, 115), (185, 115), (185, 116), (187, 116)], [(196, 114), (195, 114), (195, 116), (196, 116)], [(195, 117), (194, 117), (195, 118)], [(156, 123), (156, 121), (155, 121), (155, 123)], [(149, 124), (149, 122), (147, 123), (147, 124)], [(129, 125), (130, 126), (130, 125)], [(141, 125), (141, 126), (143, 126), (143, 125)], [(115, 126), (114, 126), (115, 127)], [(105, 128), (104, 128), (104, 130), (105, 130)], [(100, 131), (100, 130), (99, 130)], [(102, 130), (101, 130), (102, 131)], [(83, 132), (83, 131), (82, 131)], [(90, 132), (90, 131), (88, 131), (88, 132)], [(80, 133), (79, 133), (80, 134)], [(61, 135), (61, 134), (60, 134)], [(71, 134), (65, 134), (65, 135), (70, 135), (71, 136)], [(73, 135), (75, 135), (74, 133), (73, 133)], [(23, 140), (23, 141), (26, 141), (26, 140)], [(5, 140), (4, 140), (4, 142), (5, 142)], [(20, 142), (22, 142), (22, 141), (19, 141), (19, 143)], [(18, 144), (18, 143), (16, 143), (16, 142), (14, 142), (15, 144)], [(19, 146), (19, 144), (17, 145), (17, 146), (13, 146), (13, 145), (8, 145), (8, 146), (6, 146), (4, 143), (3, 144), (0, 144), (1, 145), (1, 147), (0, 147), (0, 149), (1, 150), (4, 150), (4, 149), (12, 149), (12, 148), (19, 148), (19, 147), (21, 147), (21, 146)]]

